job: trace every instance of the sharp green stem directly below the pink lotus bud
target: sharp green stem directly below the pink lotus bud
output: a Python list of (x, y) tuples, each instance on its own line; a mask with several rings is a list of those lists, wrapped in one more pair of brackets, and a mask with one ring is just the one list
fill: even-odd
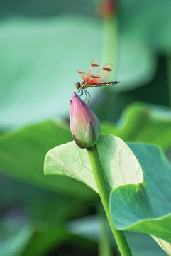
[(118, 245), (118, 250), (121, 252), (122, 256), (131, 256), (131, 250), (128, 247), (128, 244), (126, 242), (126, 238), (125, 238), (123, 232), (120, 230), (116, 230), (116, 228), (114, 227), (114, 224), (112, 223), (112, 220), (111, 220), (111, 215), (109, 212), (109, 192), (106, 187), (106, 181), (104, 180), (104, 174), (103, 174), (103, 171), (101, 168), (101, 163), (99, 160), (99, 153), (98, 153), (96, 145), (87, 149), (87, 152), (88, 152), (89, 160), (90, 160), (92, 170), (94, 173), (96, 186), (99, 191), (99, 196), (100, 196), (101, 202), (104, 206), (104, 210), (105, 210), (106, 216), (109, 220), (109, 225), (111, 226), (111, 230), (114, 234), (114, 238)]

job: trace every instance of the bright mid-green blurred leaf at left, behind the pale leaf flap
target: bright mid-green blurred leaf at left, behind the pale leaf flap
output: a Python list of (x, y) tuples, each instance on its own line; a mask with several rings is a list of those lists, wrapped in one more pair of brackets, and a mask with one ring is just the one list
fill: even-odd
[[(0, 169), (4, 174), (70, 196), (92, 198), (84, 184), (70, 177), (45, 177), (45, 153), (54, 146), (72, 140), (65, 125), (44, 122), (0, 137)], [(79, 191), (79, 192), (78, 192)]]

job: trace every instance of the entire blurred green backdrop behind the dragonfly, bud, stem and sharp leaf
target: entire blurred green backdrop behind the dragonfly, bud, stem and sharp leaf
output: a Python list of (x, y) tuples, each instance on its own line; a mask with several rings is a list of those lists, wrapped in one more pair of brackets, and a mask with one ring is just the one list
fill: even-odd
[[(98, 196), (44, 176), (45, 153), (72, 140), (76, 70), (97, 59), (121, 81), (89, 89), (102, 132), (170, 158), (170, 9), (170, 0), (0, 1), (0, 256), (108, 256)], [(166, 255), (148, 235), (126, 237), (133, 255)]]

